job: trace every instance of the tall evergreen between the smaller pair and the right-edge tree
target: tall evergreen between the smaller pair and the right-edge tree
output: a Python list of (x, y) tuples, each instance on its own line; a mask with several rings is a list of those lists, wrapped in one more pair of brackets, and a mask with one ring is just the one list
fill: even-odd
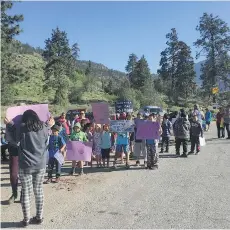
[(158, 74), (165, 83), (165, 93), (171, 101), (178, 98), (186, 100), (192, 94), (194, 86), (194, 61), (190, 47), (178, 39), (176, 29), (166, 35), (167, 48), (161, 52)]

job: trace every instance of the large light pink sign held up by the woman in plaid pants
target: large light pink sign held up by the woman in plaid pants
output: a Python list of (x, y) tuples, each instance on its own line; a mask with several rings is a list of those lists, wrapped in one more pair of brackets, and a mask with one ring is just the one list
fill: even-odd
[(9, 120), (13, 120), (16, 125), (20, 124), (22, 115), (26, 110), (33, 110), (34, 112), (36, 112), (41, 121), (46, 122), (50, 118), (48, 104), (10, 107), (6, 111), (6, 117)]

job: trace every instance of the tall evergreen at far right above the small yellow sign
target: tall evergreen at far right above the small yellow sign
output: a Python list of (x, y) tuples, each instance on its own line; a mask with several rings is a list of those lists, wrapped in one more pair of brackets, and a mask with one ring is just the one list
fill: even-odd
[(207, 93), (218, 82), (218, 78), (226, 79), (229, 73), (228, 52), (230, 51), (230, 29), (223, 20), (213, 14), (204, 13), (200, 18), (196, 30), (200, 32), (200, 38), (194, 43), (200, 51), (196, 57), (206, 56), (202, 65), (201, 80)]

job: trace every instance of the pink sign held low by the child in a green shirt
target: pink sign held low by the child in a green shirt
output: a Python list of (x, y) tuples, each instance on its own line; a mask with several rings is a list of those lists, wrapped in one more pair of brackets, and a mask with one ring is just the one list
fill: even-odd
[(66, 158), (69, 161), (91, 161), (92, 142), (69, 141), (67, 142)]

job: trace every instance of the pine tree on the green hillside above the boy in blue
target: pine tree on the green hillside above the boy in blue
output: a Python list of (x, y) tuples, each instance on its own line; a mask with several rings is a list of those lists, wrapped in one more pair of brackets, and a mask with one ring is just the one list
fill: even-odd
[(73, 60), (72, 50), (66, 32), (56, 28), (45, 44), (43, 52), (43, 57), (47, 61), (45, 89), (54, 89), (55, 103), (65, 105), (68, 103), (69, 77), (73, 68), (70, 64)]

